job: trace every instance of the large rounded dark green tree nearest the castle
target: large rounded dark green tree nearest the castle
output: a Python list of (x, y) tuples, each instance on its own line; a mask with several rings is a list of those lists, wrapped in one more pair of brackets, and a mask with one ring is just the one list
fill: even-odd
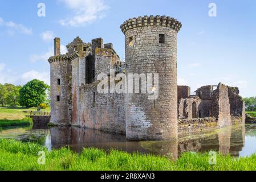
[(40, 80), (27, 82), (19, 91), (19, 103), (25, 107), (38, 107), (46, 101), (46, 90), (49, 86)]

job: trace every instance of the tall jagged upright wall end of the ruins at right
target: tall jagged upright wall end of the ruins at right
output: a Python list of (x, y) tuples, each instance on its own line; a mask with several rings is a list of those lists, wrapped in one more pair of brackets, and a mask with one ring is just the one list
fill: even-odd
[(213, 91), (211, 114), (218, 118), (220, 127), (231, 125), (229, 89), (224, 84), (219, 84)]

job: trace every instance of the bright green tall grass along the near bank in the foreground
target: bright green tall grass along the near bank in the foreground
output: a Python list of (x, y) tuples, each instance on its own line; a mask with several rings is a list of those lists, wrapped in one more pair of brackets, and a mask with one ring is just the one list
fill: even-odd
[[(46, 164), (39, 165), (38, 151), (46, 154)], [(163, 156), (111, 150), (108, 154), (97, 148), (84, 149), (80, 154), (69, 148), (47, 151), (35, 143), (0, 139), (0, 170), (256, 170), (256, 155), (231, 158), (217, 155), (217, 165), (208, 163), (208, 154), (187, 152), (177, 161)]]

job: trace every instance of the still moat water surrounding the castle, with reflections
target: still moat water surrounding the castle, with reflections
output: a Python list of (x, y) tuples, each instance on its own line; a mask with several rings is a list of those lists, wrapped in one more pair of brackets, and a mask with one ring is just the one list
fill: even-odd
[(104, 150), (116, 148), (127, 152), (165, 155), (177, 158), (185, 151), (220, 151), (232, 156), (249, 156), (256, 152), (256, 124), (230, 126), (201, 133), (188, 134), (178, 140), (165, 142), (131, 142), (124, 135), (78, 127), (47, 126), (18, 127), (0, 131), (2, 138), (15, 138), (23, 142), (34, 141), (48, 150), (70, 146), (80, 152), (86, 147)]

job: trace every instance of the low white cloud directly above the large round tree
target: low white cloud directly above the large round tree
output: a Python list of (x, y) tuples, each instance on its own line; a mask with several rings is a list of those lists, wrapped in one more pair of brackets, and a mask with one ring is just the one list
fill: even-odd
[(44, 81), (46, 84), (50, 84), (50, 73), (48, 72), (37, 72), (31, 70), (29, 72), (23, 73), (21, 78), (23, 83), (29, 82), (34, 79), (38, 79)]

